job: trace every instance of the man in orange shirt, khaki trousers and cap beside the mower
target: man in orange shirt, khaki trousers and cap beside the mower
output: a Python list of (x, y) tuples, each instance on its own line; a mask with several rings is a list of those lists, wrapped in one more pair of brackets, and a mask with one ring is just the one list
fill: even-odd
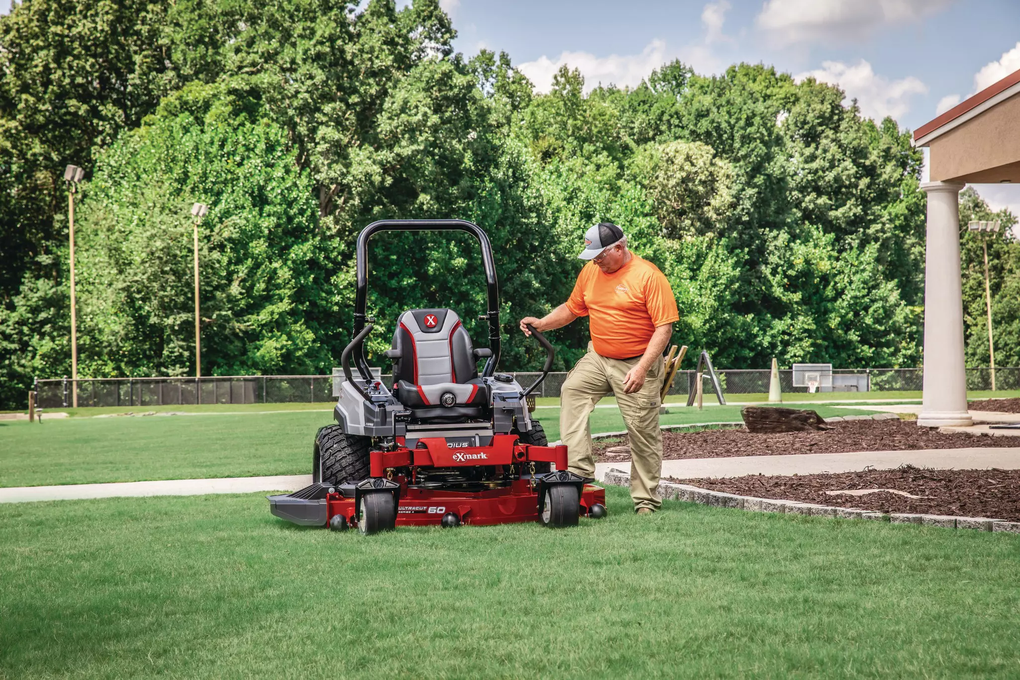
[(567, 375), (560, 397), (560, 436), (568, 447), (569, 470), (595, 476), (589, 416), (612, 391), (630, 437), (630, 498), (639, 514), (662, 504), (658, 494), (662, 472), (662, 430), (659, 390), (663, 351), (679, 319), (676, 300), (665, 275), (654, 264), (627, 250), (620, 227), (596, 224), (584, 234), (578, 256), (591, 260), (580, 270), (569, 300), (541, 319), (525, 324), (551, 330), (588, 316), (592, 342)]

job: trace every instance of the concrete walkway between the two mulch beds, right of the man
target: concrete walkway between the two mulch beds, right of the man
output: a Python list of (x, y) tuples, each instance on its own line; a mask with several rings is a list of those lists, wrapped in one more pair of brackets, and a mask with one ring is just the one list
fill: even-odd
[[(696, 458), (663, 461), (662, 476), (743, 477), (744, 475), (793, 475), (822, 472), (859, 472), (865, 468), (892, 470), (901, 465), (938, 470), (1020, 469), (1020, 448), (924, 449), (920, 451), (870, 451), (858, 454), (803, 454), (794, 456), (742, 456), (736, 458)], [(598, 463), (595, 475), (605, 478), (606, 470), (630, 471), (630, 463)]]

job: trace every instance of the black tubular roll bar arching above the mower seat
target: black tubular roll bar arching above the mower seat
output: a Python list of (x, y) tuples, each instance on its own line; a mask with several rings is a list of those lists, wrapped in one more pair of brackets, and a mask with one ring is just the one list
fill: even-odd
[[(491, 376), (496, 372), (500, 361), (500, 291), (496, 281), (496, 263), (493, 259), (493, 247), (486, 232), (473, 222), (463, 219), (380, 219), (361, 229), (357, 246), (357, 289), (354, 297), (354, 335), (357, 336), (369, 319), (365, 316), (368, 297), (368, 240), (376, 231), (467, 231), (478, 240), (481, 247), (481, 266), (486, 273), (486, 290), (489, 298), (489, 309), (484, 318), (489, 322), (489, 347), (493, 351), (486, 361), (481, 371), (482, 376)], [(364, 345), (358, 348), (355, 363), (362, 377), (366, 380), (371, 376), (368, 362), (365, 360)]]

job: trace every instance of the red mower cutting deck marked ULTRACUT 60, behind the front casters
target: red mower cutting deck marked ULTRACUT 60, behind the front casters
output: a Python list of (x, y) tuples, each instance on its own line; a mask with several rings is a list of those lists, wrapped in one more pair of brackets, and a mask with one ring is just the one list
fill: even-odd
[[(539, 520), (539, 495), (527, 479), (517, 479), (510, 486), (473, 492), (408, 488), (406, 480), (395, 477), (394, 481), (401, 484), (397, 526), (438, 526), (446, 513), (456, 514), (462, 524), (476, 526)], [(581, 516), (586, 517), (597, 503), (606, 505), (606, 489), (584, 484), (580, 494)], [(327, 524), (334, 516), (341, 515), (349, 526), (357, 525), (354, 499), (329, 493), (326, 507)]]

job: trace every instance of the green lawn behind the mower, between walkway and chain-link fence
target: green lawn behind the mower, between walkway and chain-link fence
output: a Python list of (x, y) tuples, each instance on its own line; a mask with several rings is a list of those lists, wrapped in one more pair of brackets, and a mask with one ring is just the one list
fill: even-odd
[[(305, 474), (315, 431), (333, 422), (328, 412), (208, 408), (206, 415), (0, 421), (0, 486)], [(664, 425), (741, 419), (737, 406), (670, 410)], [(852, 413), (817, 410), (822, 417)], [(536, 416), (550, 440), (558, 439), (559, 408)], [(617, 409), (593, 413), (593, 432), (622, 429)]]

